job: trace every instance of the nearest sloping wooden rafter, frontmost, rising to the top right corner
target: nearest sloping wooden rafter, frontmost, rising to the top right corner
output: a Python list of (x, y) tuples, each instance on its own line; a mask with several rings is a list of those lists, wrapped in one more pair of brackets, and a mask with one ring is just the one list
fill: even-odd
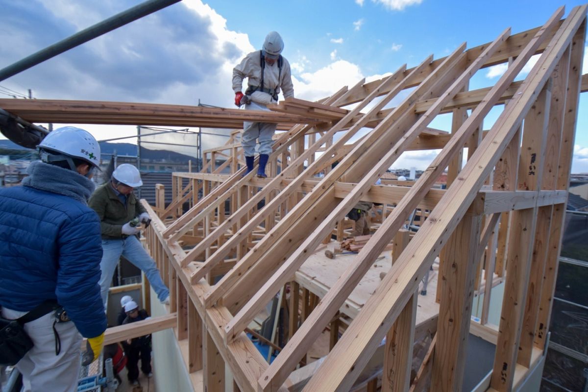
[[(583, 8), (583, 11), (585, 12), (585, 8)], [(573, 19), (579, 25), (583, 17), (580, 20)], [(574, 25), (576, 25), (575, 22)], [(358, 318), (353, 321), (338, 345), (330, 352), (319, 372), (308, 384), (309, 390), (311, 388), (324, 391), (335, 390), (336, 388), (344, 389), (346, 385), (353, 382), (352, 380), (356, 376), (355, 369), (360, 368), (362, 363), (365, 363), (367, 356), (373, 353), (376, 344), (379, 343), (390, 325), (395, 321), (406, 301), (412, 296), (416, 288), (415, 283), (419, 282), (419, 277), (424, 276), (430, 263), (439, 253), (441, 244), (445, 244), (445, 240), (452, 233), (460, 217), (465, 213), (467, 206), (475, 197), (472, 190), (479, 189), (482, 186), (482, 183), (506, 148), (507, 143), (510, 142), (510, 138), (515, 134), (524, 115), (526, 115), (540, 89), (553, 72), (556, 58), (561, 55), (569, 41), (564, 40), (563, 43), (566, 45), (563, 47), (557, 45), (557, 48), (550, 50), (549, 53), (544, 53), (542, 59), (533, 68), (526, 82), (523, 83), (524, 88), (520, 89), (520, 94), (515, 95), (506, 106), (505, 111), (500, 115), (489, 135), (482, 141), (480, 147), (467, 162), (460, 174), (459, 182), (454, 183), (449, 188), (448, 192), (443, 196), (442, 203), (439, 203), (429, 215), (429, 219), (423, 222), (415, 238), (409, 243), (405, 252), (400, 255), (400, 259), (397, 260), (392, 270), (386, 274), (382, 284), (368, 301), (369, 305), (366, 304), (363, 307)], [(522, 57), (520, 56), (519, 58)], [(524, 61), (526, 62), (526, 59)], [(515, 65), (516, 61), (512, 67), (515, 69), (516, 75), (520, 68), (516, 69), (518, 67)], [(523, 63), (519, 65), (522, 67)], [(511, 76), (514, 77), (515, 75)], [(501, 88), (506, 88), (506, 83), (504, 82), (508, 78), (505, 79), (502, 79), (502, 83), (497, 84), (497, 93), (500, 92)], [(475, 115), (476, 113), (473, 113), (468, 120), (474, 118)], [(460, 131), (467, 128), (466, 122)], [(458, 131), (458, 134), (461, 133), (460, 131)], [(467, 135), (469, 135), (469, 132), (464, 136)], [(445, 167), (443, 163), (437, 162), (437, 160), (434, 163)], [(368, 248), (369, 246), (366, 246), (363, 249)], [(338, 371), (328, 372), (329, 368), (336, 368)]]

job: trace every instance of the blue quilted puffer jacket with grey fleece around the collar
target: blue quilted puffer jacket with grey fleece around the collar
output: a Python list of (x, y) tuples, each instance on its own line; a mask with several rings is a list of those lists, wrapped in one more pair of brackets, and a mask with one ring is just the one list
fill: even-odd
[(82, 336), (99, 336), (100, 222), (86, 205), (94, 185), (42, 162), (28, 174), (23, 186), (0, 189), (0, 306), (29, 311), (56, 299)]

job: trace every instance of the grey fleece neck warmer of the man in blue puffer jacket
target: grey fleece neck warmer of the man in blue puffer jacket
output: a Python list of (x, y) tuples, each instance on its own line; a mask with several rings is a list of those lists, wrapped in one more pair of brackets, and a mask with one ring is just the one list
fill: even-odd
[(88, 204), (88, 199), (96, 188), (90, 179), (74, 170), (49, 165), (40, 160), (31, 162), (26, 174), (29, 176), (22, 180), (23, 186), (59, 193), (84, 204)]

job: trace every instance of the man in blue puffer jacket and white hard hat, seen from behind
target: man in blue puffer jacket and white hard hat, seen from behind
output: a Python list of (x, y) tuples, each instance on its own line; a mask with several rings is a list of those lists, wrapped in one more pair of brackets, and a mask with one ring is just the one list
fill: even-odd
[[(22, 186), (0, 189), (0, 364), (16, 362), (24, 391), (75, 391), (82, 336), (89, 364), (106, 330), (100, 222), (87, 201), (100, 146), (86, 130), (65, 127), (38, 152)], [(8, 329), (16, 336), (6, 333), (15, 319)], [(28, 351), (9, 350), (26, 339)]]

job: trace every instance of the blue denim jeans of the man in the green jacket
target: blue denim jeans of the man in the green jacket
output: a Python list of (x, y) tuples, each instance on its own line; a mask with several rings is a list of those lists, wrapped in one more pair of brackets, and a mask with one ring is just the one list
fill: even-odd
[(102, 273), (100, 276), (100, 292), (104, 309), (106, 309), (108, 289), (112, 282), (112, 276), (116, 264), (118, 264), (118, 260), (121, 258), (121, 254), (135, 267), (145, 273), (149, 284), (153, 287), (153, 291), (157, 293), (160, 301), (163, 302), (169, 296), (168, 287), (161, 280), (155, 262), (145, 248), (143, 248), (137, 237), (128, 236), (125, 239), (102, 240), (102, 251), (102, 261), (100, 262), (100, 271)]

